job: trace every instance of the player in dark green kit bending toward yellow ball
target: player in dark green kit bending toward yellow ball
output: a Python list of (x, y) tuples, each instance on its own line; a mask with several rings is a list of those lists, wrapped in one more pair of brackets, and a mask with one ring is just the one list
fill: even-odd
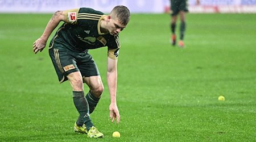
[[(68, 80), (73, 89), (73, 103), (79, 112), (74, 125), (75, 132), (86, 133), (87, 137), (93, 138), (104, 136), (90, 119), (90, 113), (100, 100), (104, 86), (96, 62), (88, 53), (89, 49), (108, 47), (109, 115), (112, 122), (119, 122), (116, 102), (119, 32), (129, 20), (130, 11), (126, 6), (115, 6), (109, 15), (90, 8), (56, 11), (42, 36), (34, 42), (34, 53), (43, 51), (52, 31), (61, 21), (64, 22), (49, 43), (49, 56), (59, 82)], [(90, 89), (87, 94), (84, 94), (84, 83)]]

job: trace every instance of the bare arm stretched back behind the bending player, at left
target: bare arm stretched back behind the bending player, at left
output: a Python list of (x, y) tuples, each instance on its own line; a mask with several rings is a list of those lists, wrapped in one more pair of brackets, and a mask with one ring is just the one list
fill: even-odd
[(43, 51), (44, 47), (46, 47), (46, 42), (51, 35), (52, 31), (58, 26), (60, 21), (64, 21), (64, 12), (56, 11), (52, 18), (49, 20), (46, 29), (43, 32), (43, 35), (37, 39), (33, 44), (34, 53), (38, 53), (38, 51)]

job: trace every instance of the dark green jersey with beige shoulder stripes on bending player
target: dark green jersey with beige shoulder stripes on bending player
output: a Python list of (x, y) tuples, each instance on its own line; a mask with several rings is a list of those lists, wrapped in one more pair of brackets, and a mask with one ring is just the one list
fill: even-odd
[(118, 56), (120, 47), (118, 35), (100, 31), (100, 22), (106, 16), (100, 11), (80, 8), (64, 11), (68, 23), (62, 24), (52, 38), (49, 48), (65, 48), (75, 52), (108, 47), (108, 55), (113, 59)]

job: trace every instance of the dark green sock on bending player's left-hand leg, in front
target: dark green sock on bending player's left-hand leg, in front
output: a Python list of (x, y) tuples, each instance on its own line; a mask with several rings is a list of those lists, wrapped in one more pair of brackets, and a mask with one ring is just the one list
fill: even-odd
[(85, 124), (87, 130), (89, 130), (89, 128), (93, 126), (93, 123), (92, 120), (90, 120), (89, 105), (84, 97), (84, 91), (73, 91), (73, 102), (80, 114), (79, 119), (77, 120), (77, 125), (81, 126), (82, 124)]

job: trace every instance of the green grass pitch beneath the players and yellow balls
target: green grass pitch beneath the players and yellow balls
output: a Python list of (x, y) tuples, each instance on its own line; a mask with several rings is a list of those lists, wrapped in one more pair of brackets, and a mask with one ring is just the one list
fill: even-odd
[[(59, 84), (47, 48), (32, 52), (51, 14), (0, 18), (0, 141), (88, 141), (73, 132), (72, 89)], [(120, 34), (118, 125), (109, 120), (106, 48), (90, 51), (105, 85), (91, 114), (100, 141), (256, 141), (256, 15), (188, 14), (184, 49), (170, 45), (169, 22), (132, 14)]]

